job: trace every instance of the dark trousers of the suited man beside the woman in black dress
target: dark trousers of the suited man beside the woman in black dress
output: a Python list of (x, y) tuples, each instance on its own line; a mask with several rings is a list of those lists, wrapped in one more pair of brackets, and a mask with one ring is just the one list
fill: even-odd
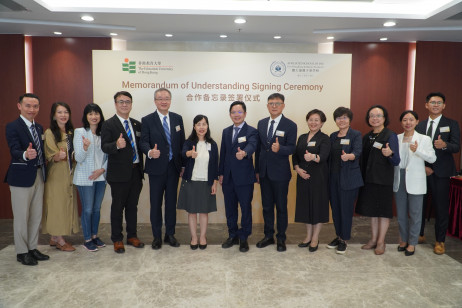
[(265, 221), (265, 237), (274, 235), (274, 204), (276, 204), (277, 230), (276, 238), (286, 240), (286, 230), (289, 223), (287, 215), (287, 193), (289, 181), (273, 181), (268, 177), (260, 178), (263, 219)]

